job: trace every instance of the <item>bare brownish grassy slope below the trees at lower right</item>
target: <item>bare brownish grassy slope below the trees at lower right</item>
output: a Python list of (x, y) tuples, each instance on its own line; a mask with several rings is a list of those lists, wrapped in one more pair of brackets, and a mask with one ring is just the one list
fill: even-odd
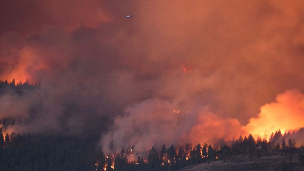
[(260, 157), (231, 156), (224, 162), (223, 160), (201, 163), (187, 166), (178, 171), (201, 171), (201, 170), (304, 170), (303, 157), (302, 165), (300, 155), (303, 156), (304, 149), (294, 149), (288, 153), (283, 150), (270, 151), (261, 154)]

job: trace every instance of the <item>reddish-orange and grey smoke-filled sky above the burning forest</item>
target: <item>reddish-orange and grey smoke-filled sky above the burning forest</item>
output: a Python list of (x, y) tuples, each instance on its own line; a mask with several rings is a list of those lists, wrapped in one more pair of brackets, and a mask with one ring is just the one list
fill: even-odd
[[(277, 94), (304, 88), (302, 1), (0, 4), (0, 79), (41, 80), (1, 97), (0, 116), (15, 117), (16, 132), (90, 131), (123, 143), (136, 136), (115, 132), (144, 118), (137, 128), (155, 137), (144, 143), (166, 128), (191, 137), (202, 130), (192, 121), (220, 121), (226, 136)], [(172, 119), (173, 110), (188, 117)], [(160, 143), (178, 141), (166, 137)]]

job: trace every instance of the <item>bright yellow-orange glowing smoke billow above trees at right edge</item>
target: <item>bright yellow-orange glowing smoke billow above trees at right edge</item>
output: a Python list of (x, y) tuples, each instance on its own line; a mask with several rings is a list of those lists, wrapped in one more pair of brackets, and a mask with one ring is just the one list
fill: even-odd
[(271, 135), (279, 129), (297, 130), (304, 125), (304, 94), (296, 90), (288, 90), (279, 94), (276, 102), (265, 104), (257, 118), (251, 118), (242, 129), (255, 138), (258, 135)]

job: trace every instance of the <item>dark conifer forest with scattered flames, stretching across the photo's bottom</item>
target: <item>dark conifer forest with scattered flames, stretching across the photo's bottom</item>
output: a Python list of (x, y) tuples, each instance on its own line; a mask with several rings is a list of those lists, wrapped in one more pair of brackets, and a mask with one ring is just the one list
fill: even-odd
[[(303, 131), (304, 128), (301, 128)], [(277, 132), (278, 134), (278, 132)], [(275, 134), (274, 134), (275, 135)], [(281, 150), (289, 154), (295, 149), (292, 139), (273, 145), (275, 136), (269, 141), (252, 135), (240, 136), (232, 140), (232, 144), (223, 144), (220, 148), (200, 143), (187, 143), (180, 147), (162, 145), (157, 150), (155, 146), (147, 150), (146, 156), (133, 154), (130, 150), (122, 149), (114, 154), (105, 154), (96, 148), (98, 142), (92, 142), (77, 136), (67, 135), (19, 135), (15, 133), (5, 135), (0, 128), (0, 168), (1, 170), (176, 170), (188, 165), (226, 161), (234, 155), (260, 157), (270, 150)], [(303, 162), (303, 155), (299, 161)]]

